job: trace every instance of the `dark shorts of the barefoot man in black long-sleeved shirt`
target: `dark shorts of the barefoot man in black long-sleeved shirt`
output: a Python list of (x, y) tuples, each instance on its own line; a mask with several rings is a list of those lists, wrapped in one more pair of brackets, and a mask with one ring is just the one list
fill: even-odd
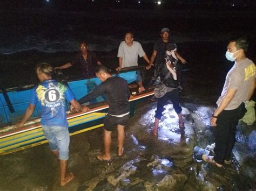
[(124, 117), (115, 117), (107, 114), (104, 119), (104, 129), (106, 131), (113, 131), (117, 125), (125, 126), (129, 122), (129, 118), (129, 114), (125, 115)]

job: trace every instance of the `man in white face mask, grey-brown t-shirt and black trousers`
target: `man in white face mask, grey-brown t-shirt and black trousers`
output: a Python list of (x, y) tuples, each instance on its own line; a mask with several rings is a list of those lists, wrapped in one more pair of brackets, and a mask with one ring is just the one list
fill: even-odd
[(203, 154), (206, 162), (222, 167), (231, 164), (231, 152), (235, 143), (235, 128), (245, 115), (245, 101), (250, 100), (255, 89), (255, 65), (246, 58), (248, 42), (245, 37), (231, 40), (226, 58), (235, 61), (227, 73), (218, 108), (213, 112), (211, 125), (215, 139), (215, 156)]

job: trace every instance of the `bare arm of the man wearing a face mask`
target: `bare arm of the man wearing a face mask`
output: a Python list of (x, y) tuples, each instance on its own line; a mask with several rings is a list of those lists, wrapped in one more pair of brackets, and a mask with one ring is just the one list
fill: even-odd
[[(234, 88), (228, 88), (227, 94), (221, 101), (219, 107), (214, 111), (213, 115), (218, 117), (218, 115), (227, 107), (228, 104), (230, 104), (231, 100), (234, 98), (235, 93), (237, 93), (237, 89)], [(212, 117), (211, 119), (211, 125), (216, 126), (217, 118)]]

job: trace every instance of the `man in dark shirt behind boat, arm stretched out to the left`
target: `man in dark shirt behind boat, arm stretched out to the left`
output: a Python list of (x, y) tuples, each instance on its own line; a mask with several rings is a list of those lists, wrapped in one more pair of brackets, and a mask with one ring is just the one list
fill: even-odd
[(95, 69), (98, 65), (102, 65), (102, 62), (99, 61), (94, 52), (89, 51), (85, 41), (79, 43), (79, 49), (80, 52), (71, 62), (56, 68), (66, 69), (74, 66), (83, 77), (95, 77)]

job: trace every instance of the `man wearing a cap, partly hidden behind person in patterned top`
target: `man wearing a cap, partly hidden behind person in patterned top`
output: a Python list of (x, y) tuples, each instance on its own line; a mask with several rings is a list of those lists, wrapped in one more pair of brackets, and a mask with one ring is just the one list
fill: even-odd
[[(153, 53), (150, 59), (149, 66), (147, 69), (150, 69), (154, 64), (154, 60), (156, 59), (155, 65), (157, 66), (159, 63), (164, 62), (165, 52), (167, 45), (170, 44), (170, 30), (168, 28), (161, 29), (161, 39), (157, 40), (154, 44)], [(175, 51), (177, 58), (184, 64), (187, 63), (184, 58), (182, 58), (177, 51)]]

